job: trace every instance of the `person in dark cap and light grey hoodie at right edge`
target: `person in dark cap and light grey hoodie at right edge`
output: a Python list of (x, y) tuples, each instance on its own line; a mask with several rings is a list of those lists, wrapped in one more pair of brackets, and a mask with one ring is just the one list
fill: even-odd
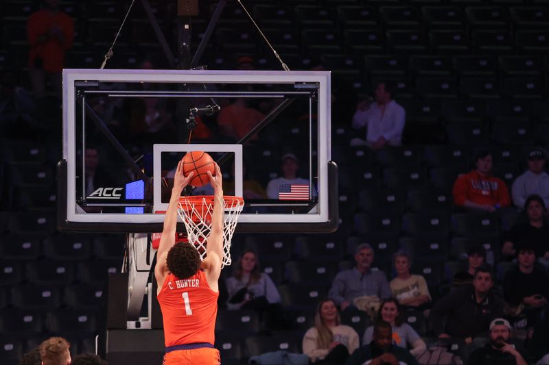
[(541, 149), (533, 149), (528, 153), (528, 171), (517, 177), (511, 186), (513, 203), (522, 210), (526, 199), (537, 194), (549, 206), (549, 174), (544, 171), (545, 153)]

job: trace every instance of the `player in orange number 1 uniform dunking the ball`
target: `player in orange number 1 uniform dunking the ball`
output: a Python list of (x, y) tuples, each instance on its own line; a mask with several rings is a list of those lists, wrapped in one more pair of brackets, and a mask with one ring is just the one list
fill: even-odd
[(214, 203), (207, 257), (202, 262), (191, 243), (175, 244), (179, 197), (193, 175), (185, 177), (183, 162), (179, 162), (154, 268), (158, 284), (156, 299), (164, 322), (165, 365), (220, 364), (219, 351), (213, 348), (213, 342), (224, 239), (222, 175), (217, 164), (215, 176), (208, 171)]

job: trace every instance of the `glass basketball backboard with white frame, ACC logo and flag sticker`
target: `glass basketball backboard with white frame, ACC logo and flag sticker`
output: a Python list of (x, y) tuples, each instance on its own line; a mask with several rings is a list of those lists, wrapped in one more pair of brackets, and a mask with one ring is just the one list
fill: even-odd
[(65, 70), (58, 225), (161, 231), (174, 168), (200, 150), (244, 197), (237, 231), (334, 231), (330, 99), (329, 72)]

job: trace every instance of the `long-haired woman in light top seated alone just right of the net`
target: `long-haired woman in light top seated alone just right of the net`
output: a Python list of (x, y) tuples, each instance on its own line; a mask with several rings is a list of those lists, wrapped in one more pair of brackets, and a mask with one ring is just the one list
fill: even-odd
[(268, 327), (283, 325), (279, 291), (269, 275), (261, 273), (255, 251), (248, 249), (240, 255), (226, 287), (229, 310), (255, 310)]

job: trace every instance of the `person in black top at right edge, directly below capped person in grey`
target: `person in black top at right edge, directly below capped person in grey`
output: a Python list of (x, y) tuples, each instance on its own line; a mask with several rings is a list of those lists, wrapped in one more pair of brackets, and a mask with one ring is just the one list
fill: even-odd
[(502, 256), (506, 260), (513, 260), (516, 255), (517, 244), (529, 242), (535, 245), (538, 257), (549, 259), (549, 227), (544, 222), (546, 205), (539, 195), (530, 195), (524, 203), (524, 211), (528, 223), (517, 223), (505, 235)]

